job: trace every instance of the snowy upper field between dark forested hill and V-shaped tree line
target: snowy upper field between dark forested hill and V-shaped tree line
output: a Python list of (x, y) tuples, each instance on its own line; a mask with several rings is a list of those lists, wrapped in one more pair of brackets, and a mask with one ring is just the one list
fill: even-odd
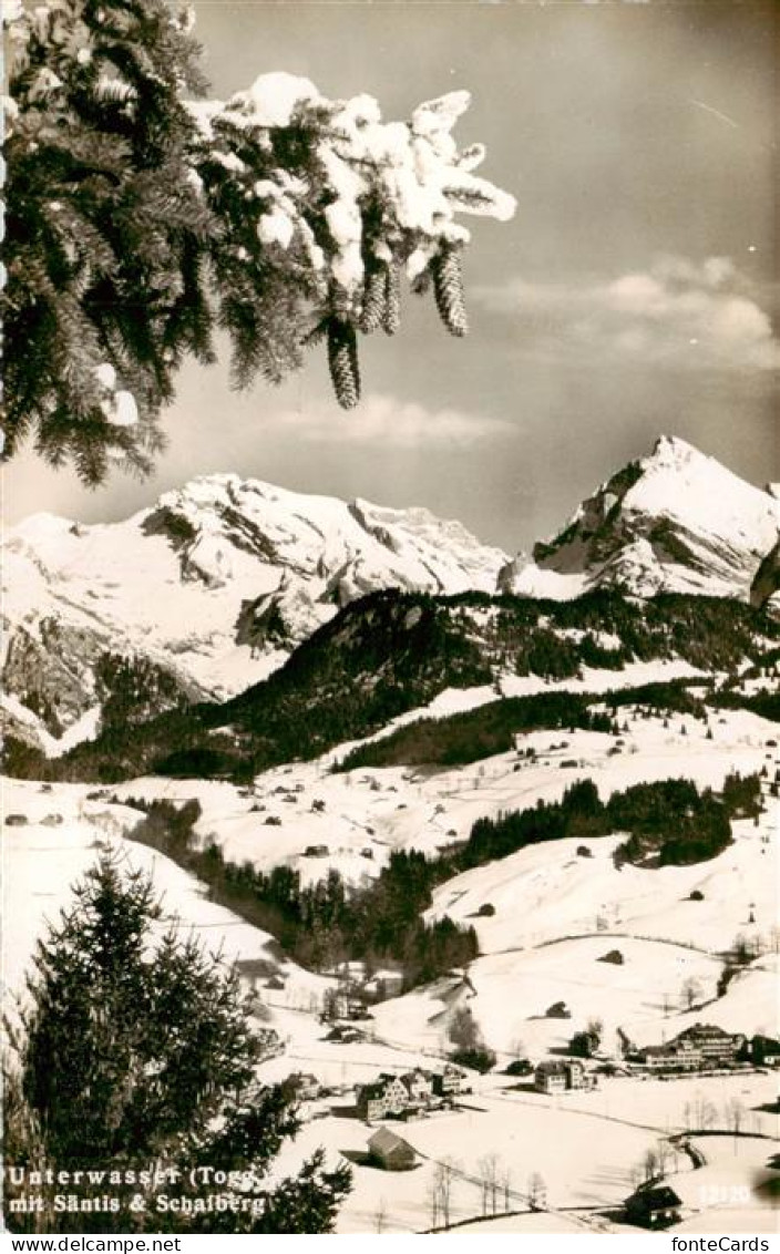
[[(662, 667), (655, 668), (642, 682), (651, 673), (666, 675)], [(484, 690), (461, 693), (461, 709), (480, 703), (483, 695)], [(450, 692), (439, 712), (455, 712), (456, 706), (456, 695)], [(248, 860), (263, 870), (295, 865), (305, 882), (321, 879), (334, 868), (347, 883), (360, 884), (379, 873), (393, 849), (433, 854), (466, 839), (477, 819), (525, 809), (539, 799), (557, 801), (579, 779), (592, 779), (603, 798), (632, 784), (670, 777), (720, 789), (730, 772), (751, 774), (771, 765), (775, 756), (767, 741), (776, 736), (776, 726), (747, 711), (729, 711), (722, 721), (712, 717), (711, 739), (705, 725), (690, 716), (675, 716), (665, 727), (663, 720), (646, 720), (628, 709), (621, 711), (619, 721), (627, 726), (619, 737), (587, 731), (523, 736), (523, 751), (533, 749), (535, 759), (519, 759), (513, 751), (451, 770), (399, 766), (332, 774), (342, 749), (314, 762), (263, 772), (251, 795), (209, 780), (157, 777), (112, 791), (123, 799), (197, 798), (203, 815), (196, 830), (213, 838), (231, 860)], [(307, 856), (314, 845), (326, 846), (327, 853)], [(583, 909), (591, 907), (583, 903)]]

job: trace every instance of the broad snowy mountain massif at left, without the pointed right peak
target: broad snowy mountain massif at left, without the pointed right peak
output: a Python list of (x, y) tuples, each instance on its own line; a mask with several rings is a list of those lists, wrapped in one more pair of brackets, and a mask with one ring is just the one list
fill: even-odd
[(194, 480), (114, 524), (38, 514), (5, 543), (6, 719), (61, 751), (105, 712), (109, 655), (143, 663), (122, 676), (138, 720), (248, 687), (366, 592), (492, 591), (505, 561), (425, 509), (236, 475)]

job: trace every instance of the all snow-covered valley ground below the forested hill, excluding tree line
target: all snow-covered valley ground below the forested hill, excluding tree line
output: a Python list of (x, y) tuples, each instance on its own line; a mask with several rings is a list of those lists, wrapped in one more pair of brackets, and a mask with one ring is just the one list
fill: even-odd
[[(468, 703), (468, 695), (461, 701)], [(451, 712), (454, 702), (453, 696), (443, 706)], [(757, 824), (734, 824), (734, 843), (724, 853), (691, 867), (617, 869), (616, 834), (529, 846), (445, 882), (434, 894), (429, 917), (446, 913), (455, 922), (473, 923), (480, 957), (466, 972), (371, 1006), (371, 1018), (355, 1025), (359, 1033), (345, 1042), (326, 1040), (327, 1026), (320, 1021), (325, 991), (339, 987), (337, 976), (301, 968), (267, 933), (211, 902), (206, 887), (168, 858), (128, 839), (142, 814), (120, 803), (197, 798), (202, 806), (197, 834), (202, 841), (216, 839), (226, 858), (248, 859), (266, 869), (287, 864), (307, 882), (332, 868), (359, 887), (377, 874), (390, 850), (418, 848), (433, 855), (465, 838), (477, 818), (559, 798), (576, 777), (591, 777), (609, 794), (633, 781), (675, 775), (719, 789), (729, 772), (760, 771), (765, 765), (774, 772), (775, 750), (767, 745), (772, 724), (730, 711), (712, 726), (714, 736), (706, 739), (693, 719), (663, 727), (660, 719), (630, 717), (619, 754), (609, 754), (616, 737), (606, 734), (576, 731), (561, 749), (559, 735), (533, 732), (510, 754), (436, 771), (389, 767), (332, 774), (326, 756), (280, 767), (241, 789), (153, 777), (97, 791), (85, 785), (6, 781), (6, 815), (26, 819), (11, 824), (4, 844), (6, 983), (20, 989), (44, 920), (66, 905), (69, 885), (99, 848), (110, 844), (128, 865), (152, 873), (164, 893), (167, 918), (177, 915), (209, 949), (222, 949), (226, 961), (242, 964), (247, 987), (253, 986), (260, 998), (258, 1023), (278, 1033), (283, 1045), (283, 1052), (262, 1065), (261, 1077), (281, 1081), (302, 1071), (334, 1093), (308, 1104), (303, 1130), (281, 1165), (298, 1161), (319, 1145), (334, 1161), (346, 1155), (354, 1162), (355, 1188), (341, 1213), (340, 1231), (376, 1230), (377, 1215), (386, 1231), (429, 1229), (431, 1181), (445, 1159), (455, 1160), (450, 1221), (472, 1220), (487, 1231), (630, 1230), (616, 1216), (631, 1193), (632, 1172), (658, 1140), (685, 1129), (686, 1104), (709, 1102), (720, 1126), (729, 1102), (739, 1096), (747, 1110), (745, 1130), (772, 1135), (776, 1115), (766, 1114), (775, 1097), (771, 1075), (688, 1076), (662, 1083), (618, 1073), (599, 1077), (592, 1092), (544, 1095), (528, 1081), (503, 1075), (503, 1068), (518, 1056), (538, 1062), (566, 1053), (572, 1033), (593, 1018), (603, 1023), (601, 1057), (616, 1061), (618, 1028), (638, 1045), (668, 1040), (701, 1021), (747, 1037), (776, 1035), (780, 810), (775, 798), (767, 796)], [(520, 756), (532, 746), (533, 760)], [(562, 767), (562, 761), (572, 760), (576, 766)], [(324, 806), (315, 808), (315, 801)], [(267, 824), (270, 816), (280, 825)], [(327, 851), (312, 855), (322, 845)], [(691, 899), (695, 890), (700, 900)], [(494, 913), (479, 917), (485, 903)], [(717, 997), (722, 954), (737, 934), (755, 939), (756, 956)], [(622, 962), (604, 962), (614, 949)], [(696, 989), (691, 1008), (686, 986)], [(564, 1021), (545, 1013), (559, 1001), (571, 1016)], [(374, 1129), (350, 1110), (355, 1086), (380, 1072), (441, 1067), (451, 1048), (449, 1025), (464, 1006), (498, 1055), (494, 1071), (473, 1073), (473, 1096), (456, 1109), (404, 1125), (418, 1170), (380, 1172), (365, 1165)], [(604, 1135), (593, 1156), (598, 1129)], [(709, 1224), (719, 1231), (767, 1230), (771, 1213), (750, 1191), (750, 1171), (766, 1162), (767, 1146), (760, 1137), (740, 1142), (740, 1157), (730, 1162), (739, 1175), (739, 1204), (717, 1206), (716, 1220), (706, 1199), (721, 1194), (704, 1189), (704, 1171), (691, 1174), (683, 1154), (670, 1160), (670, 1170), (677, 1172), (675, 1189), (685, 1201), (686, 1230), (705, 1231)], [(480, 1218), (479, 1164), (490, 1154), (507, 1178), (508, 1205), (500, 1201), (498, 1210), (518, 1211), (513, 1218)], [(715, 1166), (706, 1171), (717, 1175)], [(545, 1186), (542, 1214), (528, 1209), (528, 1181), (534, 1175)], [(735, 1179), (730, 1176), (732, 1185)]]

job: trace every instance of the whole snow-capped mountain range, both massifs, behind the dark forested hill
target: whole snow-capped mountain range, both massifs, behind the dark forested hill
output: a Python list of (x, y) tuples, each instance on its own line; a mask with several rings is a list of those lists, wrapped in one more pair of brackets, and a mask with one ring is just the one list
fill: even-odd
[(236, 696), (381, 589), (569, 601), (619, 588), (762, 604), (780, 582), (779, 509), (771, 492), (661, 438), (532, 558), (425, 509), (236, 475), (197, 479), (120, 523), (38, 514), (4, 545), (6, 726), (58, 754), (118, 717)]

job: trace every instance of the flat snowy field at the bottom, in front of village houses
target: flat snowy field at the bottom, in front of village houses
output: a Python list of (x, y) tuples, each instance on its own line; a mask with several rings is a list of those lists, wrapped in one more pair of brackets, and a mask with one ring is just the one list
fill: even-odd
[[(492, 1081), (492, 1087), (465, 1097), (461, 1110), (398, 1127), (418, 1154), (410, 1171), (382, 1171), (362, 1162), (372, 1130), (345, 1117), (308, 1124), (290, 1155), (292, 1160), (322, 1145), (334, 1157), (354, 1164), (355, 1188), (339, 1218), (342, 1233), (375, 1231), (380, 1218), (384, 1231), (430, 1228), (431, 1186), (441, 1162), (454, 1170), (451, 1223), (474, 1220), (474, 1230), (484, 1228), (485, 1234), (636, 1231), (606, 1216), (636, 1188), (645, 1155), (663, 1142), (668, 1179), (683, 1203), (686, 1231), (766, 1231), (774, 1230), (775, 1216), (754, 1189), (762, 1174), (771, 1174), (767, 1161), (775, 1146), (767, 1137), (775, 1129), (772, 1117), (754, 1107), (769, 1092), (771, 1083), (762, 1076), (676, 1083), (616, 1080), (593, 1093), (552, 1097), (499, 1090)], [(706, 1164), (693, 1170), (690, 1157), (675, 1151), (666, 1137), (685, 1127), (686, 1104), (706, 1100), (720, 1111), (735, 1096), (747, 1107), (746, 1132), (752, 1135), (737, 1141), (731, 1136), (696, 1139)], [(497, 1209), (508, 1206), (520, 1214), (480, 1223), (482, 1178), (492, 1156), (499, 1181)], [(533, 1176), (540, 1176), (544, 1188), (543, 1215), (528, 1214)]]

